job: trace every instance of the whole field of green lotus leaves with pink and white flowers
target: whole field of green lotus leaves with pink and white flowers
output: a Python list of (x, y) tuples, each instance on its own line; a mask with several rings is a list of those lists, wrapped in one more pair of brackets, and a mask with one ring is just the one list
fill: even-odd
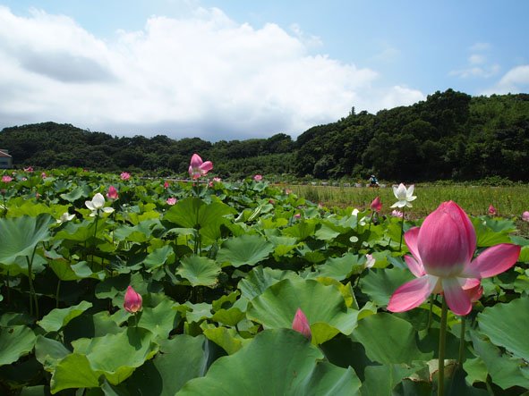
[(3, 174), (0, 394), (529, 394), (513, 220), (418, 218), (404, 184), (328, 209), (212, 168)]

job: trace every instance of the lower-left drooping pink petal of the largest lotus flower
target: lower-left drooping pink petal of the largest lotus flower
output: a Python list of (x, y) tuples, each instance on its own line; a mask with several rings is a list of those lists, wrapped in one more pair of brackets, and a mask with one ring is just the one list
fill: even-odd
[(437, 276), (424, 275), (406, 282), (389, 299), (388, 311), (404, 312), (419, 307), (431, 295), (438, 281)]

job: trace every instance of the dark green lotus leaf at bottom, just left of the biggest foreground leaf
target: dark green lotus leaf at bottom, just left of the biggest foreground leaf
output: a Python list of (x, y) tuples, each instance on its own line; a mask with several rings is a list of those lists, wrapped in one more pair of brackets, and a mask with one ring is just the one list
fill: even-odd
[(211, 356), (203, 335), (180, 334), (161, 342), (160, 353), (126, 381), (131, 396), (174, 396), (192, 378), (206, 374)]

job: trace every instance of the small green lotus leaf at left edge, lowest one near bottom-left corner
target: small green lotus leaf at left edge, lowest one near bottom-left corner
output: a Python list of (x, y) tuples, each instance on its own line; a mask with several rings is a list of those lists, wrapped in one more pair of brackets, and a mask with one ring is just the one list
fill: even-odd
[(30, 353), (35, 340), (35, 333), (27, 326), (0, 328), (0, 366), (10, 365)]

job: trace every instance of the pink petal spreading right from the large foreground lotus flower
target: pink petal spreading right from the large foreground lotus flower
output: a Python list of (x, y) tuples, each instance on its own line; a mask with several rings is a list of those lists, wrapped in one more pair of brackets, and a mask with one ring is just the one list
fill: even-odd
[(515, 265), (522, 248), (510, 243), (501, 243), (482, 251), (474, 261), (466, 265), (461, 276), (468, 278), (490, 278)]

